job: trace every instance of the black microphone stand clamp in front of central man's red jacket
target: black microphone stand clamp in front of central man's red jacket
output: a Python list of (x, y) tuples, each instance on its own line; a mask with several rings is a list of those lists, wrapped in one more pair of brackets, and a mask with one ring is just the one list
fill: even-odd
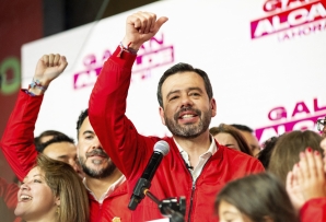
[(176, 198), (159, 200), (149, 189), (144, 189), (143, 194), (153, 200), (165, 217), (170, 218), (170, 222), (185, 222), (186, 198), (181, 197), (179, 202)]

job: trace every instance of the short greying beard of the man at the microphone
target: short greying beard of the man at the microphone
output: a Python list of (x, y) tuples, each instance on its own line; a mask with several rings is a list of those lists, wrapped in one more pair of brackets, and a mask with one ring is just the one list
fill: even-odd
[[(199, 117), (201, 117), (202, 112), (200, 112), (199, 109), (191, 109), (191, 110), (196, 112), (196, 114)], [(193, 139), (193, 138), (197, 138), (209, 128), (210, 120), (211, 120), (210, 110), (203, 112), (202, 119), (200, 119), (200, 122), (198, 124), (198, 126), (194, 126), (193, 124), (189, 124), (183, 127), (177, 124), (179, 113), (181, 112), (176, 113), (173, 119), (168, 119), (166, 116), (164, 116), (166, 127), (173, 136)]]

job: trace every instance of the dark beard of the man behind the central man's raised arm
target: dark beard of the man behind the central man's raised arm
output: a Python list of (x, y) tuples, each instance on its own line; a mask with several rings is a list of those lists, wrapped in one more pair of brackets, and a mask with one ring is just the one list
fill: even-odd
[[(94, 161), (96, 161), (96, 160), (94, 160)], [(93, 163), (94, 163), (94, 161), (93, 161)], [(80, 162), (80, 165), (81, 165), (83, 172), (92, 178), (97, 178), (97, 179), (106, 178), (106, 177), (110, 176), (113, 174), (113, 172), (116, 170), (116, 165), (112, 161), (105, 168), (101, 168), (101, 170), (92, 170), (92, 168), (88, 167), (86, 161), (82, 156), (79, 156), (79, 162)]]

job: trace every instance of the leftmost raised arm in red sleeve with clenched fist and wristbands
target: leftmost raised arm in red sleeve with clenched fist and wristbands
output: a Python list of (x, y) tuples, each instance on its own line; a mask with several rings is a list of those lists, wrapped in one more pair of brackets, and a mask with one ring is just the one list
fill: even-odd
[(21, 90), (1, 139), (2, 152), (15, 175), (22, 180), (36, 160), (34, 129), (43, 101), (50, 82), (67, 67), (60, 55), (45, 55), (37, 65), (28, 90)]

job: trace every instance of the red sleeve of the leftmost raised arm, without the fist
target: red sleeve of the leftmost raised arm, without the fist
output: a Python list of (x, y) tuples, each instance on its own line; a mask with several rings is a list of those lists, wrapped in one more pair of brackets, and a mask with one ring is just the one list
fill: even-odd
[(34, 128), (43, 101), (23, 90), (5, 126), (1, 149), (11, 168), (22, 180), (33, 167), (37, 151), (34, 145)]

